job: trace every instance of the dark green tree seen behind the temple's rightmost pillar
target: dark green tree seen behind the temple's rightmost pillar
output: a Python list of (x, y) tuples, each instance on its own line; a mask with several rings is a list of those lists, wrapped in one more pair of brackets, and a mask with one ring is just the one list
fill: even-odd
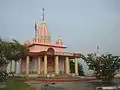
[[(70, 61), (70, 72), (75, 72), (75, 63), (73, 61)], [(79, 76), (84, 76), (83, 66), (78, 63), (78, 74)]]

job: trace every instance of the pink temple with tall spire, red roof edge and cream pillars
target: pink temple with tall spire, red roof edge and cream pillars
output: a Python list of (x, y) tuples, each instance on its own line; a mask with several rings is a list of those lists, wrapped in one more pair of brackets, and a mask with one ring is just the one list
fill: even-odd
[(44, 19), (44, 9), (42, 12), (42, 22), (35, 23), (35, 37), (32, 42), (25, 41), (29, 53), (20, 60), (20, 74), (29, 76), (56, 76), (70, 75), (70, 60), (75, 61), (75, 75), (78, 75), (79, 53), (65, 52), (65, 45), (62, 39), (58, 39), (55, 44), (51, 43), (51, 35), (48, 31)]

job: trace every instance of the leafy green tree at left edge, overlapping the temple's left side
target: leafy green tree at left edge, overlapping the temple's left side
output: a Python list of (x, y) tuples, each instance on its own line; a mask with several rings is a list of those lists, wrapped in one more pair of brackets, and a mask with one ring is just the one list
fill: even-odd
[[(5, 76), (7, 65), (12, 60), (16, 62), (24, 55), (27, 55), (28, 49), (24, 45), (21, 45), (18, 41), (6, 41), (0, 38), (0, 80), (6, 79)], [(15, 68), (16, 71), (16, 68)], [(5, 76), (3, 76), (5, 75)], [(4, 77), (4, 78), (3, 78)]]

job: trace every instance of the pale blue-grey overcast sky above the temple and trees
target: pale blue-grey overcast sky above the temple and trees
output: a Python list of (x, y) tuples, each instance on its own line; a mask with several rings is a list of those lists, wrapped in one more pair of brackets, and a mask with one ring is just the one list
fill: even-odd
[(62, 36), (68, 51), (120, 55), (120, 0), (0, 0), (0, 36), (32, 40), (42, 8), (55, 43)]

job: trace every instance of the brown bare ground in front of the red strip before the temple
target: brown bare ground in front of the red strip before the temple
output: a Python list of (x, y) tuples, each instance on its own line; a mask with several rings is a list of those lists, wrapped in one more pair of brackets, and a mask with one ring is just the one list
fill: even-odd
[[(120, 83), (120, 80), (118, 80)], [(27, 82), (31, 87), (36, 90), (95, 90), (97, 86), (100, 86), (99, 81), (89, 82), (57, 82), (57, 83), (40, 83), (39, 81)]]

